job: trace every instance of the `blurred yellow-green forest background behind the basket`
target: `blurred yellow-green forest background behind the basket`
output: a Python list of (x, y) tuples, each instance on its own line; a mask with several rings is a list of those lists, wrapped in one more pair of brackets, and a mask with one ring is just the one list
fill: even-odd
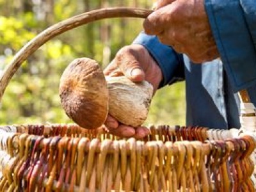
[[(79, 13), (113, 6), (151, 8), (151, 0), (0, 0), (0, 70), (38, 33)], [(47, 42), (23, 63), (4, 93), (0, 124), (71, 122), (60, 106), (58, 86), (74, 58), (93, 58), (108, 65), (118, 49), (131, 44), (142, 19), (109, 19), (72, 29)], [(155, 95), (148, 124), (184, 125), (184, 83)]]

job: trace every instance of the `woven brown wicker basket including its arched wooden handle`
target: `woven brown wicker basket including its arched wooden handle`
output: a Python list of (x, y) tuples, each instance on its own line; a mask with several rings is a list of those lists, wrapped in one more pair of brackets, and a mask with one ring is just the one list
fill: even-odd
[[(96, 10), (46, 29), (4, 70), (0, 99), (22, 62), (52, 37), (94, 20), (150, 12)], [(242, 132), (152, 126), (143, 140), (125, 140), (102, 128), (6, 125), (0, 127), (0, 191), (255, 191), (255, 136)]]

